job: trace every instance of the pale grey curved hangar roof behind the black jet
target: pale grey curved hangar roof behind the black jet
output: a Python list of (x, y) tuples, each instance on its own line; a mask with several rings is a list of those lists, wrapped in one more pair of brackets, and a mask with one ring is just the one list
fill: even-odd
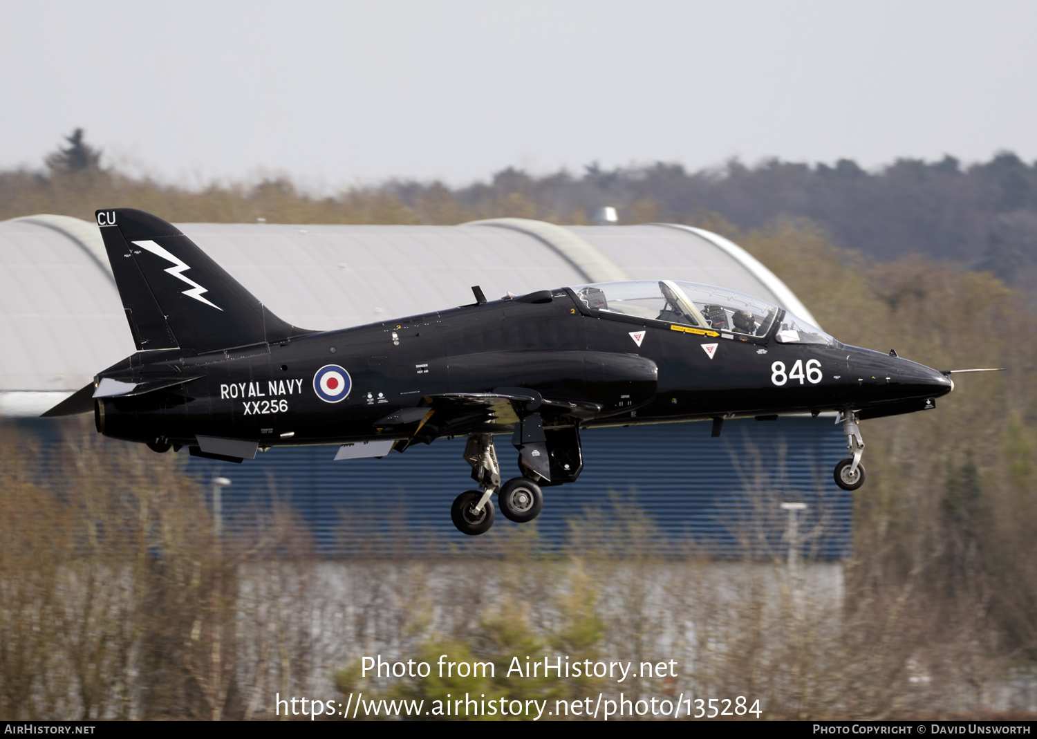
[[(561, 227), (177, 224), (296, 325), (362, 325), (506, 292), (614, 280), (731, 287), (810, 312), (763, 264), (709, 231), (673, 224)], [(97, 227), (66, 216), (0, 222), (0, 416), (38, 416), (134, 352)]]

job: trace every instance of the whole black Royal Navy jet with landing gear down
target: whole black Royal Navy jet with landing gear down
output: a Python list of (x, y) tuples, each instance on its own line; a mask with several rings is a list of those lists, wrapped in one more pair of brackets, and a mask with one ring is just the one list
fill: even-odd
[[(836, 411), (864, 483), (861, 420), (932, 408), (949, 371), (836, 341), (766, 301), (671, 280), (571, 285), (425, 315), (315, 332), (278, 318), (188, 236), (130, 208), (96, 211), (138, 351), (45, 416), (93, 410), (97, 431), (241, 462), (256, 451), (340, 445), (381, 457), (467, 436), (479, 490), (454, 524), (482, 534), (491, 498), (532, 520), (541, 488), (574, 481), (594, 426)], [(509, 433), (520, 475), (502, 482)]]

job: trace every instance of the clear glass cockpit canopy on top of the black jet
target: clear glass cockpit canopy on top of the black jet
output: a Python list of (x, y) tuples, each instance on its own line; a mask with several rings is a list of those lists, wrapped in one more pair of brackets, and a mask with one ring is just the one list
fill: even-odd
[(817, 326), (759, 297), (694, 282), (636, 280), (576, 285), (577, 296), (594, 313), (678, 323), (762, 338), (780, 317), (776, 338), (786, 344), (831, 344)]

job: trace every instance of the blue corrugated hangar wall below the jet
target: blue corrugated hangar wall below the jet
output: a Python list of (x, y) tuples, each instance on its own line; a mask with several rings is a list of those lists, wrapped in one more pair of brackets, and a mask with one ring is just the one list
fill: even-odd
[[(831, 418), (728, 421), (584, 431), (584, 472), (544, 488), (543, 512), (516, 524), (498, 512), (481, 537), (458, 533), (450, 504), (476, 486), (461, 459), (463, 438), (419, 445), (383, 459), (333, 462), (334, 447), (275, 449), (243, 464), (192, 458), (189, 471), (230, 478), (222, 493), (228, 535), (247, 511), (276, 496), (306, 521), (326, 557), (506, 556), (507, 546), (721, 558), (784, 557), (787, 514), (803, 502), (803, 553), (838, 560), (850, 550), (851, 495), (832, 480), (846, 456)], [(517, 453), (498, 436), (502, 477), (517, 475)], [(517, 537), (517, 538), (516, 538)], [(517, 543), (516, 543), (517, 542)]]

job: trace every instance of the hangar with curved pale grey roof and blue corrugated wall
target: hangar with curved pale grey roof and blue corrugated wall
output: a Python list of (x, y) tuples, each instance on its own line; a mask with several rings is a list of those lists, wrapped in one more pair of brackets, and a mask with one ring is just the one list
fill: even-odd
[[(493, 219), (460, 226), (177, 226), (274, 313), (309, 329), (468, 304), (472, 285), (494, 300), (664, 278), (735, 288), (813, 320), (748, 252), (676, 224), (561, 227)], [(134, 352), (94, 224), (51, 215), (0, 222), (0, 417), (44, 436), (49, 422), (28, 419)], [(537, 527), (548, 541), (565, 539), (574, 518), (636, 506), (672, 541), (735, 555), (745, 549), (749, 525), (763, 523), (773, 535), (765, 538), (780, 540), (780, 498), (807, 502), (808, 521), (823, 523), (808, 553), (833, 560), (848, 552), (849, 493), (830, 476), (843, 456), (843, 436), (831, 419), (729, 422), (721, 438), (710, 438), (706, 424), (592, 429), (583, 436), (580, 480), (545, 490)], [(440, 439), (403, 455), (335, 463), (330, 447), (276, 449), (240, 467), (224, 464), (219, 474), (232, 481), (223, 493), (230, 517), (234, 505), (269, 495), (276, 480), (328, 556), (377, 553), (379, 541), (453, 550), (470, 544), (449, 517), (453, 498), (474, 486), (463, 447), (461, 439)], [(503, 445), (499, 452), (507, 458)], [(511, 472), (510, 463), (504, 466)], [(216, 474), (208, 460), (192, 459), (188, 468)], [(499, 516), (481, 538), (514, 525)]]

